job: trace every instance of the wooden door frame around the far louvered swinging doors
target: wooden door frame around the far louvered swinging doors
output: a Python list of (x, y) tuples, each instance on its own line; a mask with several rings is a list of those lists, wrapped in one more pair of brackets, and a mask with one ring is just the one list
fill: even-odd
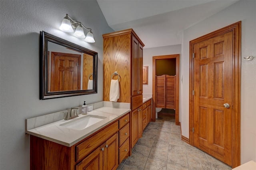
[[(156, 63), (157, 61), (164, 61), (166, 59), (175, 59), (175, 64), (173, 66), (169, 66), (167, 68), (162, 68), (163, 69), (170, 69), (170, 67), (175, 67), (175, 72), (176, 72), (176, 76), (175, 76), (175, 81), (176, 81), (176, 85), (175, 85), (175, 124), (179, 125), (179, 66), (180, 66), (180, 55), (179, 54), (175, 54), (175, 55), (160, 55), (160, 56), (153, 56), (153, 83), (152, 83), (152, 99), (153, 99), (153, 108), (152, 108), (152, 121), (155, 122), (156, 121)], [(161, 74), (161, 73), (159, 73)], [(171, 112), (171, 111), (170, 111)], [(172, 111), (173, 112), (173, 111)]]

